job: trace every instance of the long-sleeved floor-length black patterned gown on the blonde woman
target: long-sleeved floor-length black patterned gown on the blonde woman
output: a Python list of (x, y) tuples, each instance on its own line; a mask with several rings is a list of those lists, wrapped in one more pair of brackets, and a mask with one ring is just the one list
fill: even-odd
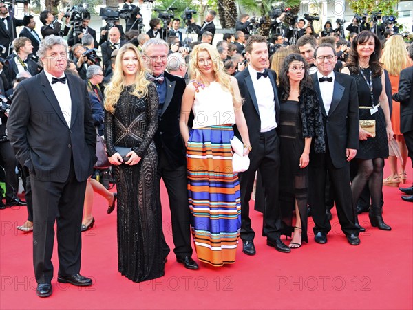
[(107, 154), (114, 146), (131, 147), (138, 164), (113, 166), (118, 190), (118, 269), (134, 282), (165, 274), (161, 255), (162, 217), (156, 193), (157, 153), (153, 136), (158, 128), (158, 93), (151, 83), (147, 98), (126, 87), (114, 114), (106, 112)]

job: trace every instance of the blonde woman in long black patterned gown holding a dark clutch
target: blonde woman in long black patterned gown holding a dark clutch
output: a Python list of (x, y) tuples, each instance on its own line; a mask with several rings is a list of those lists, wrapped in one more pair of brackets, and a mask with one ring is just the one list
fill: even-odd
[[(134, 45), (119, 49), (105, 98), (107, 155), (114, 165), (118, 190), (118, 269), (134, 282), (151, 280), (165, 273), (153, 142), (158, 128), (158, 92), (145, 79)], [(120, 155), (118, 147), (129, 148), (126, 156)]]

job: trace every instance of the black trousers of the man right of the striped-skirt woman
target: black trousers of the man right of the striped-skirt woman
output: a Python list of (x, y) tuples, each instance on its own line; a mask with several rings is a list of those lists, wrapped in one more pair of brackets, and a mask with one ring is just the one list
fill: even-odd
[(255, 232), (251, 228), (249, 201), (253, 191), (255, 171), (259, 170), (264, 189), (264, 217), (262, 235), (274, 241), (281, 233), (279, 190), (279, 138), (275, 129), (260, 134), (258, 146), (250, 153), (250, 167), (240, 173), (241, 190), (241, 239), (252, 241)]

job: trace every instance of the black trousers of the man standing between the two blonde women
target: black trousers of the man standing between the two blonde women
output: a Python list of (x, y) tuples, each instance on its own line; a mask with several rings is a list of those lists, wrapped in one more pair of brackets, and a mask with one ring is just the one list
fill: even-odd
[[(165, 241), (165, 233), (172, 233), (173, 252), (177, 258), (192, 256), (191, 218), (188, 205), (187, 165), (172, 168), (166, 154), (158, 151), (157, 186), (160, 193), (160, 179), (163, 179), (169, 198), (171, 225), (162, 221), (162, 250), (165, 257), (169, 254), (169, 246)], [(158, 195), (160, 204), (160, 195)], [(160, 210), (162, 210), (160, 208)]]

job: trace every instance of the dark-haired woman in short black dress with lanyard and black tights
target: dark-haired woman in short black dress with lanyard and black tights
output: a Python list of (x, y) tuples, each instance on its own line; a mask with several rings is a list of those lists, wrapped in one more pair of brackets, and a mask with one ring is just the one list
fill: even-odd
[[(353, 38), (346, 62), (347, 67), (341, 72), (350, 74), (356, 79), (360, 120), (374, 120), (376, 123), (375, 137), (364, 129), (359, 129), (359, 150), (354, 158), (357, 160), (358, 170), (351, 184), (353, 207), (357, 206), (357, 201), (368, 181), (372, 199), (368, 214), (370, 222), (373, 227), (391, 230), (392, 228), (384, 223), (381, 215), (384, 159), (389, 155), (388, 140), (393, 139), (393, 129), (388, 97), (385, 93), (383, 69), (379, 63), (380, 57), (379, 38), (372, 32), (362, 31)], [(356, 224), (359, 225), (357, 212), (355, 213)]]

